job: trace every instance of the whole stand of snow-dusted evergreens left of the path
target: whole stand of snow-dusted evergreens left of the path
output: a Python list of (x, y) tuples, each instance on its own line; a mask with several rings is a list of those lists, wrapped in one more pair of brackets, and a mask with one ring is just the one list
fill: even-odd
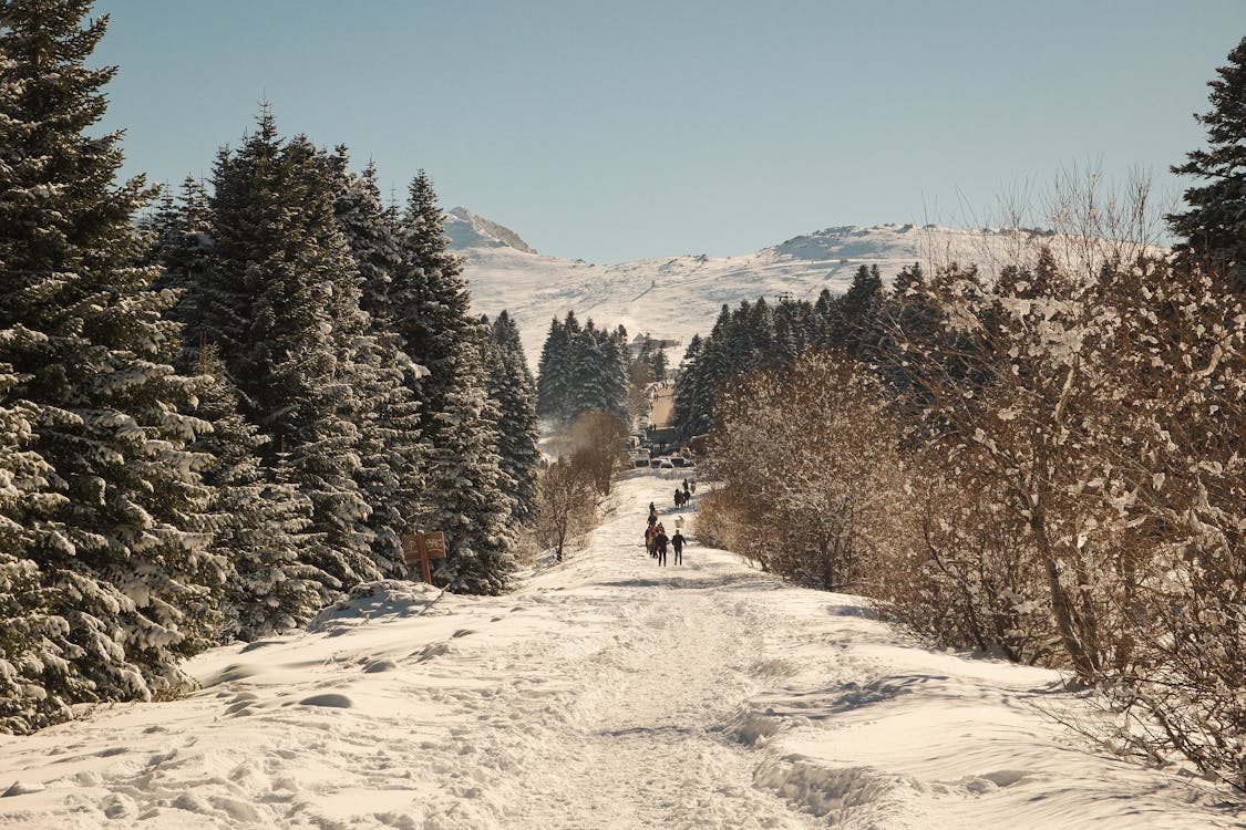
[[(267, 111), (142, 221), (92, 136), (87, 0), (0, 4), (0, 727), (148, 699), (224, 638), (360, 581), (505, 590), (537, 510), (536, 398), (503, 312), (468, 312), (421, 172), (384, 205), (345, 148)], [(502, 413), (505, 412), (505, 418)]]

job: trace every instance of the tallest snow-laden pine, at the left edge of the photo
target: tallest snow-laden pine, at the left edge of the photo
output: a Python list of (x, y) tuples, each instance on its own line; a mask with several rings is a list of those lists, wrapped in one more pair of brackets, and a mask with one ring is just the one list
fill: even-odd
[(21, 487), (54, 493), (26, 505), (26, 548), (7, 553), (37, 566), (20, 564), (20, 579), (47, 615), (32, 631), (49, 658), (41, 686), (22, 694), (62, 702), (179, 687), (179, 661), (211, 642), (224, 570), (208, 549), (204, 459), (186, 447), (207, 424), (179, 414), (189, 381), (169, 365), (173, 297), (135, 266), (133, 215), (151, 194), (142, 178), (113, 188), (117, 133), (86, 133), (115, 71), (85, 66), (106, 24), (83, 26), (88, 10), (0, 2), (2, 408), (32, 431), (24, 463), (41, 482)]

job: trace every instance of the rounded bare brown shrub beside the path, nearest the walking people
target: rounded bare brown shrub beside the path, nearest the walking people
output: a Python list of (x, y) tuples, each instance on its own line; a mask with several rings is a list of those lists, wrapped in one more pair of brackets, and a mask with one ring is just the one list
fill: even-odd
[(806, 353), (736, 383), (719, 418), (730, 549), (804, 585), (862, 590), (902, 513), (903, 464), (877, 385), (851, 361)]

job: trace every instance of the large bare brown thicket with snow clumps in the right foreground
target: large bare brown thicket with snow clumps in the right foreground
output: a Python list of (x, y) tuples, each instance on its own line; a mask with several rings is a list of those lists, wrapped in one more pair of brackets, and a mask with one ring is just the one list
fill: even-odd
[(1246, 314), (1146, 244), (1134, 198), (1088, 189), (1050, 246), (988, 275), (947, 265), (898, 302), (927, 314), (892, 314), (880, 353), (937, 465), (925, 487), (968, 497), (925, 523), (957, 611), (910, 611), (1023, 660), (1054, 631), (1053, 657), (1109, 693), (1118, 745), (1246, 788)]

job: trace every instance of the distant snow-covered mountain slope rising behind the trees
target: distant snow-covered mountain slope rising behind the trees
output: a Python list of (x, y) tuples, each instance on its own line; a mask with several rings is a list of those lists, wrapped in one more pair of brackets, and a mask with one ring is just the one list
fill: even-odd
[[(861, 265), (877, 265), (891, 277), (917, 261), (983, 261), (1017, 243), (1008, 234), (938, 226), (842, 226), (740, 256), (597, 265), (537, 254), (515, 231), (465, 208), (450, 213), (446, 230), (466, 256), (473, 310), (491, 317), (510, 310), (532, 365), (549, 320), (571, 310), (599, 326), (623, 324), (633, 336), (649, 332), (687, 343), (693, 333), (709, 331), (724, 302), (734, 306), (759, 296), (769, 302), (780, 295), (814, 300), (822, 289), (847, 290)], [(682, 356), (683, 347), (670, 355), (677, 363)]]

